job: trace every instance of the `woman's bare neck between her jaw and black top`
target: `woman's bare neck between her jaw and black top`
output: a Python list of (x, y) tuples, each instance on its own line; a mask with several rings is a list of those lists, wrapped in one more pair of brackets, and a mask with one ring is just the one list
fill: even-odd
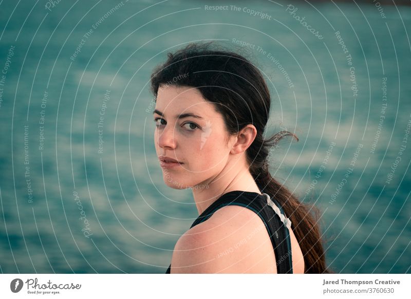
[[(238, 165), (239, 163), (237, 163)], [(242, 165), (241, 167), (231, 167), (227, 164), (225, 168), (215, 177), (210, 178), (206, 182), (199, 185), (208, 185), (207, 189), (193, 188), (194, 202), (200, 215), (210, 205), (216, 201), (221, 195), (231, 191), (247, 191), (261, 194), (257, 184), (254, 181), (248, 167)], [(227, 179), (229, 178), (229, 179)]]

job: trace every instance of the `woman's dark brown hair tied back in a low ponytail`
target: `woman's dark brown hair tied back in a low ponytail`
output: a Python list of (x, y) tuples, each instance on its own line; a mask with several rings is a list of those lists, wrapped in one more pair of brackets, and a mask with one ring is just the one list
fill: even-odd
[[(304, 255), (305, 273), (333, 273), (327, 269), (320, 234), (319, 209), (300, 202), (270, 172), (268, 155), (279, 140), (293, 136), (286, 131), (265, 140), (263, 133), (270, 115), (271, 96), (267, 84), (249, 60), (230, 50), (213, 48), (213, 42), (189, 44), (155, 68), (151, 91), (155, 98), (161, 84), (196, 87), (224, 118), (229, 135), (253, 124), (257, 136), (247, 148), (249, 170), (261, 192), (275, 198), (291, 219), (292, 230)], [(311, 213), (313, 215), (311, 215)]]

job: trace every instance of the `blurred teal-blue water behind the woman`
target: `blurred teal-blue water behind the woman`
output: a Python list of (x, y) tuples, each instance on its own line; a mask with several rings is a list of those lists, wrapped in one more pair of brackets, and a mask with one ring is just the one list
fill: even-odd
[(272, 92), (267, 133), (283, 127), (300, 138), (275, 149), (271, 173), (321, 209), (327, 264), (411, 273), (410, 7), (383, 6), (382, 15), (361, 2), (294, 2), (293, 14), (272, 1), (236, 2), (240, 11), (174, 0), (46, 5), (0, 4), (1, 272), (163, 273), (198, 214), (189, 190), (162, 181), (146, 112), (150, 74), (186, 43), (238, 49), (236, 39), (255, 45), (249, 53)]

